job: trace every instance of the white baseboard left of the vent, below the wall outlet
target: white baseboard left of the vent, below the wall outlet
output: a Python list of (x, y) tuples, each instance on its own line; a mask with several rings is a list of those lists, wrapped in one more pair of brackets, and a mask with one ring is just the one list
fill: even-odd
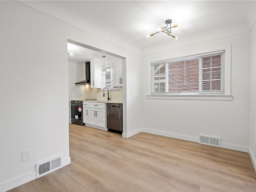
[(16, 178), (13, 178), (13, 179), (10, 179), (8, 181), (1, 183), (0, 184), (0, 192), (6, 192), (6, 191), (16, 188), (22, 184), (30, 182), (34, 179), (36, 179), (36, 170), (34, 170), (32, 172), (28, 172), (26, 174), (23, 174), (21, 176), (18, 176)]

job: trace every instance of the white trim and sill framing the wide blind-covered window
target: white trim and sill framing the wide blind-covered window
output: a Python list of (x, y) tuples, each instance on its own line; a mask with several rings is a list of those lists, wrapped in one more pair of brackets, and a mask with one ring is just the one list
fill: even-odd
[[(206, 43), (207, 44), (207, 43)], [(209, 44), (209, 43), (208, 43)], [(211, 44), (211, 43), (210, 43)], [(151, 63), (154, 62), (165, 62), (167, 60), (171, 59), (161, 59), (161, 55), (158, 57), (152, 56), (151, 58), (148, 58), (147, 60), (147, 78), (148, 78), (148, 91), (146, 98), (147, 99), (191, 99), (191, 100), (232, 100), (231, 95), (231, 45), (230, 44), (223, 44), (223, 45), (204, 45), (200, 48), (200, 46), (197, 47), (198, 50), (194, 49), (193, 51), (188, 52), (178, 52), (179, 49), (177, 48), (177, 51), (172, 52), (172, 58), (180, 58), (180, 57), (186, 57), (186, 56), (193, 56), (198, 54), (208, 54), (211, 52), (221, 51), (225, 50), (225, 60), (224, 60), (224, 92), (222, 94), (214, 94), (214, 93), (204, 93), (204, 94), (194, 94), (194, 93), (184, 93), (184, 94), (150, 94), (150, 85), (151, 85), (151, 79), (150, 79), (150, 73), (151, 73)], [(203, 50), (203, 51), (202, 51)]]

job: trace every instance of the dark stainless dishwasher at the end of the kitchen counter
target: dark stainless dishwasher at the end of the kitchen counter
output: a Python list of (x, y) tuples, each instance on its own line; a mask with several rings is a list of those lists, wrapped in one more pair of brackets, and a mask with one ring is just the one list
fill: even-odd
[(123, 105), (119, 103), (107, 103), (107, 128), (123, 132)]

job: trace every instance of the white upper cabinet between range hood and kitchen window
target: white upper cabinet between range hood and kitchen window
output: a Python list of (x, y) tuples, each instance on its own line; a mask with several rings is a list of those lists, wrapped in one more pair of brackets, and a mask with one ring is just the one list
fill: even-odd
[(90, 60), (91, 88), (101, 88), (101, 60)]

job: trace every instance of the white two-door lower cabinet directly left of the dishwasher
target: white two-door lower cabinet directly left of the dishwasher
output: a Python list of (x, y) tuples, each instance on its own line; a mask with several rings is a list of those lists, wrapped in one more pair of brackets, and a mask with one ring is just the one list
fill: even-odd
[(89, 102), (88, 106), (88, 124), (106, 128), (106, 104)]

